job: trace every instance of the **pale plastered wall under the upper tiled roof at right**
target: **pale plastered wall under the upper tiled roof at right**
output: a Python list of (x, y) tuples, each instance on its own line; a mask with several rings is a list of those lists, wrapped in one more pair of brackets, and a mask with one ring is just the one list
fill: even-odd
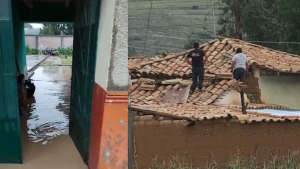
[(259, 76), (261, 101), (300, 109), (300, 76), (296, 74), (276, 76), (264, 73), (261, 71)]

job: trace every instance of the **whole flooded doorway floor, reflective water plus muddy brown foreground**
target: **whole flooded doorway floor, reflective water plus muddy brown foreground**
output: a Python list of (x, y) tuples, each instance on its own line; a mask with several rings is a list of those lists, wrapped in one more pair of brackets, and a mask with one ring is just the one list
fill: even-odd
[(1, 164), (0, 169), (87, 169), (68, 135), (70, 78), (69, 66), (35, 70), (31, 111), (20, 117), (24, 164)]

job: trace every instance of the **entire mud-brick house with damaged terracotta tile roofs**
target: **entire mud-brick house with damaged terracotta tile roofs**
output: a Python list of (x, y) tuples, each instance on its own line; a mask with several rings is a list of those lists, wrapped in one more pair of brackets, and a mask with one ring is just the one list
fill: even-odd
[[(241, 111), (241, 85), (230, 72), (238, 47), (250, 65), (247, 114)], [(209, 56), (201, 93), (189, 94), (192, 71), (184, 58), (190, 50), (128, 59), (139, 168), (149, 167), (154, 154), (165, 162), (180, 155), (205, 167), (212, 159), (225, 164), (237, 149), (263, 161), (270, 149), (286, 155), (300, 146), (294, 139), (300, 138), (300, 113), (292, 110), (300, 109), (299, 56), (223, 37), (201, 48)]]

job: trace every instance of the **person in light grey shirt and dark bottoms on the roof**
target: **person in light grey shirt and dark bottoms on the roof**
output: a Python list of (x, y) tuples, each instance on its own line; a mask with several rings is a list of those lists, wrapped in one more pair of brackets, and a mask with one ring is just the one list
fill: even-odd
[(245, 82), (245, 77), (248, 70), (247, 57), (243, 54), (241, 48), (237, 48), (236, 55), (232, 57), (231, 72), (233, 77), (240, 82)]

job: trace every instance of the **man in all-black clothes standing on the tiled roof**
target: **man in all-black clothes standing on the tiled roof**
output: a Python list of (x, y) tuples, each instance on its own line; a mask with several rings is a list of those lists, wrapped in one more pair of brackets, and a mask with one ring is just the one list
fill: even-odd
[[(202, 84), (204, 80), (204, 64), (207, 61), (207, 56), (205, 52), (199, 48), (199, 43), (194, 44), (194, 50), (190, 51), (185, 60), (188, 64), (192, 65), (192, 74), (193, 74), (193, 84), (191, 86), (191, 92), (195, 92), (196, 87), (198, 86), (199, 91), (202, 91)], [(204, 59), (205, 56), (205, 59)], [(199, 83), (198, 83), (199, 79)]]

